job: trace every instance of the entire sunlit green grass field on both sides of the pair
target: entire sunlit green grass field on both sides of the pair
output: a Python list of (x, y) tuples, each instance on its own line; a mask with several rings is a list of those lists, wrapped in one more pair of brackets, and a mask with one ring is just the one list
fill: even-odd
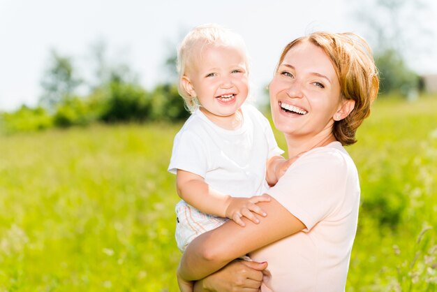
[[(180, 126), (0, 136), (0, 291), (178, 291), (166, 168)], [(358, 140), (346, 291), (437, 291), (437, 98), (380, 99)]]

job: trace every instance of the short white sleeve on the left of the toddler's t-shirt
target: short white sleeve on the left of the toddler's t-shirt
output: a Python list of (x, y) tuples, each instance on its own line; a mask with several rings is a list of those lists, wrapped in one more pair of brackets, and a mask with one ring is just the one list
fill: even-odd
[(168, 171), (175, 174), (180, 169), (205, 177), (208, 165), (206, 148), (202, 139), (193, 131), (177, 133)]

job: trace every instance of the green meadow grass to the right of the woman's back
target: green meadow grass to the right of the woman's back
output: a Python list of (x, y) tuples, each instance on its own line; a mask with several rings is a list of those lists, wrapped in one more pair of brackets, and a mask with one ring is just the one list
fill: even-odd
[(436, 107), (380, 99), (348, 148), (362, 186), (350, 291), (437, 291)]

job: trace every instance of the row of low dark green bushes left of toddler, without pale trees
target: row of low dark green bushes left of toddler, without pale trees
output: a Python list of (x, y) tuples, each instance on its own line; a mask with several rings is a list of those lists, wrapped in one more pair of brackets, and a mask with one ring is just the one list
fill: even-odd
[(176, 85), (164, 84), (146, 92), (135, 82), (112, 80), (88, 96), (59, 101), (53, 110), (23, 106), (13, 113), (0, 114), (2, 131), (37, 131), (52, 126), (87, 126), (103, 122), (179, 121), (189, 117)]

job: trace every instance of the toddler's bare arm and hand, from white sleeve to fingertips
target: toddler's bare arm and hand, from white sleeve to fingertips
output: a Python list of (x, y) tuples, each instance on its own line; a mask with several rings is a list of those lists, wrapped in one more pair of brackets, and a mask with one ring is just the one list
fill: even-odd
[(259, 222), (253, 213), (260, 214), (262, 217), (267, 214), (255, 203), (268, 202), (270, 197), (267, 195), (253, 196), (251, 198), (233, 198), (209, 187), (203, 177), (195, 175), (185, 170), (177, 170), (176, 175), (177, 194), (186, 203), (196, 209), (219, 217), (228, 217), (240, 226), (245, 226), (241, 217)]

